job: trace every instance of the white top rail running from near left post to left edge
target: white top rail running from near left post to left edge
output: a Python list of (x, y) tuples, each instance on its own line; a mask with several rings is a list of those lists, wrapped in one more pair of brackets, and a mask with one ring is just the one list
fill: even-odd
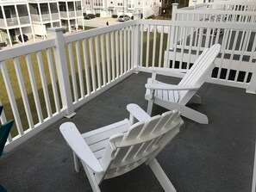
[(4, 49), (0, 51), (0, 61), (10, 58), (16, 58), (29, 53), (38, 52), (53, 46), (55, 46), (55, 40), (49, 39), (22, 46), (11, 47), (9, 49)]

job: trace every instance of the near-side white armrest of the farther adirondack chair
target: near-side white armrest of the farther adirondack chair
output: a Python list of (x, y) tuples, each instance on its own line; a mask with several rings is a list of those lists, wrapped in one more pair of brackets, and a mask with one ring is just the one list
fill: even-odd
[(145, 84), (149, 90), (199, 90), (200, 86), (175, 84)]

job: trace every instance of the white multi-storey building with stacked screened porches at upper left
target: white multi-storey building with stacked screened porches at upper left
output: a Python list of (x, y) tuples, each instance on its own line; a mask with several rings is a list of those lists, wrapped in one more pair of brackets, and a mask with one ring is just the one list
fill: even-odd
[(1, 0), (0, 43), (13, 46), (35, 37), (47, 37), (47, 28), (78, 30), (83, 21), (81, 0)]

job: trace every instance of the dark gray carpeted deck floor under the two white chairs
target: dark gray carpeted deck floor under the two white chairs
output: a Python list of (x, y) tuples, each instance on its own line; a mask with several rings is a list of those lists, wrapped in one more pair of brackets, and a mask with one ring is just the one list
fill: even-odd
[[(59, 133), (59, 125), (73, 121), (84, 133), (128, 118), (126, 105), (147, 108), (144, 99), (149, 74), (128, 77), (79, 108), (71, 120), (63, 118), (0, 158), (0, 183), (9, 192), (91, 191), (81, 169), (73, 169), (72, 152)], [(178, 79), (172, 78), (173, 83)], [(198, 91), (201, 105), (190, 105), (208, 115), (209, 125), (184, 118), (178, 136), (158, 156), (159, 164), (178, 192), (249, 192), (253, 176), (256, 135), (256, 96), (242, 89), (204, 84)], [(153, 107), (153, 115), (165, 108)], [(81, 167), (82, 168), (82, 167)], [(163, 191), (146, 165), (106, 180), (105, 192)]]

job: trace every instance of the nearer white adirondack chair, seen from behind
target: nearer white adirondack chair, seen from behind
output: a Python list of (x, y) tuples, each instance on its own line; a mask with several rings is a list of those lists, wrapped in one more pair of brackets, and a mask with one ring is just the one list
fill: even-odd
[[(75, 169), (80, 158), (94, 192), (103, 179), (120, 176), (148, 164), (167, 192), (176, 191), (160, 167), (156, 156), (179, 132), (183, 120), (177, 110), (150, 117), (136, 104), (128, 104), (130, 121), (125, 119), (88, 133), (80, 134), (72, 122), (59, 127), (72, 148)], [(134, 118), (138, 122), (134, 123)], [(77, 158), (78, 157), (78, 158)]]

